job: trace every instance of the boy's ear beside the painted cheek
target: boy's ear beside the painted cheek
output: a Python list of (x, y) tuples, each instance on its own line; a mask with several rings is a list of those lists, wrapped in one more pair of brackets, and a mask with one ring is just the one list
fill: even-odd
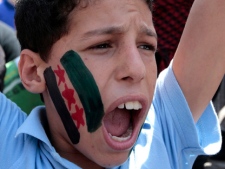
[(24, 87), (32, 93), (42, 93), (46, 89), (44, 70), (47, 64), (38, 53), (25, 49), (21, 52), (19, 74)]

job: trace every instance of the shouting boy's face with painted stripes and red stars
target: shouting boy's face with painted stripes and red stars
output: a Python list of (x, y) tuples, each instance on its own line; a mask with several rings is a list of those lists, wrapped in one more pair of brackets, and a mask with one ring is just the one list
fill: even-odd
[(80, 134), (73, 146), (101, 166), (119, 165), (129, 156), (154, 92), (152, 14), (144, 0), (96, 1), (76, 9), (70, 22), (48, 64)]

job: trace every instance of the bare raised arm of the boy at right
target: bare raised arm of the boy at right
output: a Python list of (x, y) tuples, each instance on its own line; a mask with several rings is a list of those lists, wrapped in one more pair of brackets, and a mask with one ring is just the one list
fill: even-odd
[(225, 73), (224, 0), (195, 0), (173, 70), (197, 121)]

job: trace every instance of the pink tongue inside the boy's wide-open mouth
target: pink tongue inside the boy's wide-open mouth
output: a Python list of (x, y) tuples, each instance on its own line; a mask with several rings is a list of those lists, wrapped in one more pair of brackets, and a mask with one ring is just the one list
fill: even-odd
[(130, 126), (130, 112), (125, 109), (115, 109), (104, 118), (104, 125), (112, 136), (121, 136)]

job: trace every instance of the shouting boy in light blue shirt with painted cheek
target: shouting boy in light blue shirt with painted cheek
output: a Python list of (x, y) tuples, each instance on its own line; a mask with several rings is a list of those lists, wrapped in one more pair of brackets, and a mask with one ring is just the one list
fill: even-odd
[(151, 5), (18, 2), (19, 73), (45, 107), (25, 120), (1, 95), (1, 168), (191, 168), (197, 155), (218, 152), (209, 100), (225, 69), (215, 35), (224, 27), (225, 3), (196, 0), (157, 85)]

